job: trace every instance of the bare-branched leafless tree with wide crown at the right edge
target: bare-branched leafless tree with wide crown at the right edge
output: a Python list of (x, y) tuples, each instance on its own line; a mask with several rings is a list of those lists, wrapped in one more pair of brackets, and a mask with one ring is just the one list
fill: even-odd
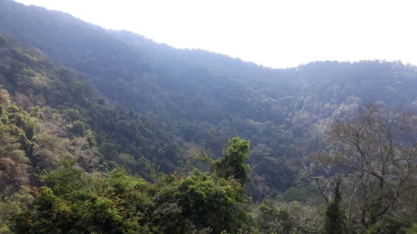
[(417, 187), (416, 116), (380, 106), (359, 107), (329, 125), (327, 140), (335, 149), (328, 161), (345, 169), (350, 187), (348, 219), (354, 208), (360, 222), (373, 222)]

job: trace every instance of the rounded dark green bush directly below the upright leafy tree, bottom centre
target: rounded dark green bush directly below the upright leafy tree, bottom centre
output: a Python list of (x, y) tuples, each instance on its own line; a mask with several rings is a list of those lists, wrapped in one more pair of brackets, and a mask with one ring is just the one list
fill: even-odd
[(156, 214), (165, 233), (188, 233), (190, 224), (212, 228), (213, 233), (237, 233), (252, 223), (242, 190), (234, 181), (195, 171), (156, 194)]

